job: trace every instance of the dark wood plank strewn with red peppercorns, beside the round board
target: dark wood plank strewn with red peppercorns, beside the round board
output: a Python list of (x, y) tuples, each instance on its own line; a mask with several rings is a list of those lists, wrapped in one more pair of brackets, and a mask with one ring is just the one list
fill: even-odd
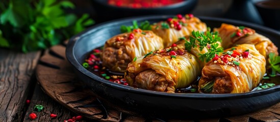
[[(43, 105), (45, 108), (41, 112), (37, 112), (33, 110), (36, 105)], [(73, 116), (77, 116), (77, 114), (47, 96), (38, 84), (35, 86), (34, 95), (23, 121), (31, 121), (29, 118), (30, 113), (35, 113), (37, 115), (37, 118), (33, 121), (64, 121), (65, 119), (67, 120)], [(58, 116), (52, 119), (49, 116), (51, 113), (57, 114)], [(86, 117), (84, 117), (82, 121), (86, 121)]]

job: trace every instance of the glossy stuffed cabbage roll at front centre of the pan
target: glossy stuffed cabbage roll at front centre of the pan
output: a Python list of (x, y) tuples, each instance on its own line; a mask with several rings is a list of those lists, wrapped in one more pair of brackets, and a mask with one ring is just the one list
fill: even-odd
[(185, 51), (169, 47), (150, 52), (131, 62), (124, 78), (130, 86), (174, 93), (193, 82), (200, 74), (197, 58)]

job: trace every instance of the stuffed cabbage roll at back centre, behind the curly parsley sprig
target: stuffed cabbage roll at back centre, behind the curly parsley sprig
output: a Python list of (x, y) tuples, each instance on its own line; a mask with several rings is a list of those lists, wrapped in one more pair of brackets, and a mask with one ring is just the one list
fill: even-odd
[(168, 18), (166, 21), (158, 22), (151, 26), (152, 32), (164, 40), (164, 46), (170, 46), (178, 38), (191, 36), (192, 31), (206, 32), (207, 26), (192, 14), (185, 17), (177, 15), (176, 18)]

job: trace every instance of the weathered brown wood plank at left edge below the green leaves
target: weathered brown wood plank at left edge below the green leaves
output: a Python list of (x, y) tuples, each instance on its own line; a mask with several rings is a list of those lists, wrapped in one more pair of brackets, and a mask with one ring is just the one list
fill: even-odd
[(0, 49), (0, 121), (20, 121), (41, 52)]

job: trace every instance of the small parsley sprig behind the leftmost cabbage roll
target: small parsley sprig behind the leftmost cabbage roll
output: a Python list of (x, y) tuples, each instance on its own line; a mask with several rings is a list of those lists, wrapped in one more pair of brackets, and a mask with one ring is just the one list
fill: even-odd
[(138, 25), (138, 22), (136, 20), (132, 21), (131, 26), (125, 26), (125, 25), (121, 25), (120, 26), (120, 32), (121, 33), (130, 33), (133, 31), (133, 29), (142, 29), (142, 30), (151, 30), (151, 25), (149, 21), (143, 21), (140, 23), (140, 25)]

